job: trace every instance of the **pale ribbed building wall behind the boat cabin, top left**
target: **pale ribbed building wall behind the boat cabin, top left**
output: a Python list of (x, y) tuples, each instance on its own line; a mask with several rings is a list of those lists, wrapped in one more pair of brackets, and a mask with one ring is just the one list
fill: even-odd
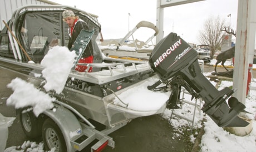
[(0, 0), (0, 31), (4, 28), (4, 23), (11, 19), (13, 12), (28, 4), (57, 4), (46, 0)]

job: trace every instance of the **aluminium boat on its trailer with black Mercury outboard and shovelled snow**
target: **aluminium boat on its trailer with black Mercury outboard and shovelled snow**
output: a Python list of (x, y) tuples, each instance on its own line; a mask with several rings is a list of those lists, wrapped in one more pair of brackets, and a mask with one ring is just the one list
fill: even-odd
[[(61, 15), (65, 9), (71, 9), (89, 25), (88, 31), (82, 32), (86, 42), (77, 39), (71, 52), (65, 47), (67, 26)], [(181, 87), (204, 100), (203, 112), (217, 125), (248, 125), (237, 116), (245, 112), (245, 106), (233, 97), (228, 104), (225, 102), (234, 90), (216, 90), (201, 74), (196, 51), (175, 33), (156, 45), (149, 62), (128, 62), (102, 55), (96, 43), (100, 24), (76, 8), (25, 6), (17, 9), (8, 26), (14, 36), (5, 29), (1, 39), (9, 40), (12, 47), (3, 47), (8, 50), (1, 47), (0, 66), (26, 75), (27, 80), (14, 79), (8, 84), (14, 93), (7, 103), (18, 108), (24, 133), (29, 138), (42, 135), (47, 150), (81, 151), (95, 139), (98, 141), (91, 151), (100, 151), (107, 145), (114, 148), (115, 142), (108, 134), (134, 118), (177, 108)], [(77, 72), (73, 70), (74, 64), (78, 64), (80, 53), (89, 41), (93, 47), (93, 64), (80, 65), (93, 67), (92, 73)], [(81, 47), (76, 48), (76, 44)], [(149, 83), (152, 85), (146, 86)], [(30, 89), (24, 89), (27, 86)], [(133, 92), (137, 87), (140, 92)], [(144, 96), (149, 93), (159, 100)], [(132, 95), (137, 100), (129, 99)], [(43, 99), (47, 105), (42, 104)], [(97, 130), (92, 120), (106, 129)]]

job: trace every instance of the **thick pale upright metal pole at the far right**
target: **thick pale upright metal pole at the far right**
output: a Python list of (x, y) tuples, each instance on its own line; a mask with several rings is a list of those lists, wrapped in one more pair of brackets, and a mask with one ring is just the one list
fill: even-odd
[[(256, 1), (238, 1), (237, 38), (235, 43), (235, 65), (233, 74), (234, 93), (239, 102), (245, 104), (248, 66), (253, 63), (255, 43)], [(251, 55), (250, 55), (251, 54)]]

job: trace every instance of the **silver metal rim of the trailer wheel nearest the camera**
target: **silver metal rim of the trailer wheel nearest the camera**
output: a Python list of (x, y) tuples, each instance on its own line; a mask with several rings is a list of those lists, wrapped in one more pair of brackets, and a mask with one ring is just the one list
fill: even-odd
[(56, 148), (55, 151), (60, 150), (60, 140), (55, 130), (51, 128), (47, 128), (45, 131), (45, 138), (46, 138), (47, 145), (50, 149), (55, 147)]

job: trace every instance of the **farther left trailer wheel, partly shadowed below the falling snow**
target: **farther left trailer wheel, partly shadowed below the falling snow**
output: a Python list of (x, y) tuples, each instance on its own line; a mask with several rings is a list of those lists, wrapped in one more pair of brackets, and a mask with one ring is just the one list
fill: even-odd
[(21, 126), (24, 131), (24, 134), (28, 136), (28, 138), (35, 139), (41, 134), (41, 129), (38, 128), (37, 118), (32, 111), (26, 113), (20, 113)]

